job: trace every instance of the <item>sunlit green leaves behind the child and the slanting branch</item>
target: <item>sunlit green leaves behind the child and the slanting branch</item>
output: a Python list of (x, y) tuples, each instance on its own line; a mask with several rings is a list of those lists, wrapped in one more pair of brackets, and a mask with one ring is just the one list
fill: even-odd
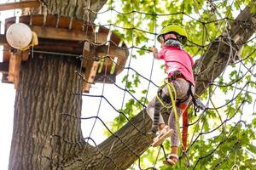
[[(112, 19), (108, 22), (112, 24), (113, 31), (132, 47), (131, 57), (134, 59), (148, 54), (148, 48), (157, 45), (154, 38), (162, 26), (172, 22), (182, 24), (189, 35), (185, 50), (194, 59), (200, 59), (213, 40), (222, 35), (229, 36), (230, 23), (249, 3), (251, 1), (246, 0), (108, 1), (108, 9), (112, 11)], [(253, 6), (255, 10), (255, 2)], [(188, 169), (256, 169), (255, 33), (244, 42), (238, 55), (239, 59), (233, 59), (230, 65), (226, 65), (224, 73), (201, 94), (207, 111), (195, 116), (190, 109), (189, 122), (194, 124), (189, 127), (188, 153), (192, 166)], [(195, 68), (195, 76), (198, 74), (201, 72)], [(140, 102), (148, 104), (145, 98), (148, 88), (140, 75), (127, 74), (123, 82), (132, 94), (139, 93)], [(141, 86), (144, 88), (139, 88)], [(130, 99), (121, 111), (131, 118), (142, 109), (143, 105)], [(109, 124), (114, 131), (125, 122), (125, 117), (120, 115)], [(170, 142), (166, 141), (164, 147), (169, 152)], [(141, 157), (140, 165), (137, 161), (130, 169), (148, 165), (166, 169), (162, 165), (164, 159), (162, 150), (159, 155), (158, 149), (149, 149)], [(184, 169), (185, 164), (186, 160), (182, 159), (173, 169)]]

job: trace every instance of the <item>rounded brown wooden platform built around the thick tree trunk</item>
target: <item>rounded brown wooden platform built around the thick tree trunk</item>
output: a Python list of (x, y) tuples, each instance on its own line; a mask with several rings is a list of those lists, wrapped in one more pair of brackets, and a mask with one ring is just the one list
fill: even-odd
[[(87, 82), (95, 82), (96, 77), (102, 75), (102, 68), (104, 70), (106, 68), (107, 75), (113, 79), (123, 71), (122, 67), (125, 66), (128, 56), (126, 45), (120, 42), (117, 35), (103, 26), (97, 28), (94, 25), (86, 25), (83, 20), (42, 14), (20, 16), (20, 22), (30, 26), (32, 31), (37, 33), (39, 44), (34, 50), (81, 54), (87, 58), (83, 63), (84, 79)], [(14, 23), (15, 17), (7, 19), (5, 30)], [(12, 54), (4, 35), (0, 35), (0, 45), (4, 47), (3, 63), (0, 63), (3, 82), (14, 82), (17, 86), (19, 80), (17, 71), (20, 71), (21, 61), (28, 59), (29, 52), (18, 50), (16, 54)], [(84, 82), (83, 88), (84, 92), (89, 92), (90, 83)]]

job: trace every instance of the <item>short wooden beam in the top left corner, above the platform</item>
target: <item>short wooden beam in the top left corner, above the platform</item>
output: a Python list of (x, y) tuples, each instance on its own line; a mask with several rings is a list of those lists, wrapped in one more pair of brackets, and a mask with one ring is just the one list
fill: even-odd
[(22, 1), (16, 3), (3, 3), (0, 4), (0, 11), (10, 10), (15, 8), (34, 8), (39, 7), (40, 3), (38, 1)]

